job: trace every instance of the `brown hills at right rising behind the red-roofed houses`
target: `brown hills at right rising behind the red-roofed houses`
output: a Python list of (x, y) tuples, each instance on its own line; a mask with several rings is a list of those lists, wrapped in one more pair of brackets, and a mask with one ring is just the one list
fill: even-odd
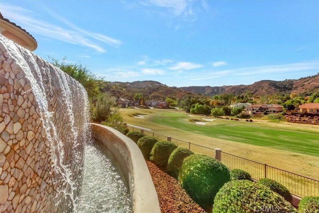
[(213, 96), (222, 93), (233, 93), (234, 95), (244, 95), (250, 92), (252, 95), (263, 96), (274, 93), (296, 93), (297, 95), (311, 95), (319, 92), (319, 75), (300, 78), (298, 80), (272, 81), (262, 80), (250, 85), (235, 86), (189, 86), (178, 89), (187, 92)]

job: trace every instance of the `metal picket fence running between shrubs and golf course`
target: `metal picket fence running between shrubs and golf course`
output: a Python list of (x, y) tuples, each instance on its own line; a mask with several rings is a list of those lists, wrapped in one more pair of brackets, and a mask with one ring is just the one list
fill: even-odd
[[(145, 135), (153, 136), (158, 140), (170, 140), (178, 147), (188, 148), (196, 154), (208, 155), (215, 158), (215, 150), (209, 147), (193, 144), (190, 142), (171, 138), (170, 136), (160, 135), (144, 129), (129, 127), (132, 131), (141, 131)], [(284, 185), (291, 194), (298, 197), (316, 196), (319, 197), (319, 180), (298, 175), (283, 169), (269, 166), (267, 164), (252, 161), (236, 155), (221, 151), (220, 161), (230, 170), (241, 169), (248, 172), (254, 180), (269, 178)]]

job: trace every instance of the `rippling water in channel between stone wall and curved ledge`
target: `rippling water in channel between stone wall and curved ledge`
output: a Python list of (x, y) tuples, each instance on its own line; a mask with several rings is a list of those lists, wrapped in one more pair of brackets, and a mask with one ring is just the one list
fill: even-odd
[(132, 213), (130, 192), (110, 151), (94, 142), (85, 146), (78, 213)]

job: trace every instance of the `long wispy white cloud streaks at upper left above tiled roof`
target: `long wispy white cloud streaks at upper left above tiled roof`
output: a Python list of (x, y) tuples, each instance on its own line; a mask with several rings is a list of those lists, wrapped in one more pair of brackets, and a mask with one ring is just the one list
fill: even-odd
[(62, 24), (65, 24), (70, 28), (63, 28), (59, 25), (54, 25), (39, 18), (35, 18), (33, 17), (34, 14), (32, 11), (23, 9), (21, 7), (2, 4), (1, 8), (3, 9), (1, 12), (4, 17), (18, 25), (22, 25), (23, 28), (27, 28), (28, 31), (33, 35), (38, 34), (52, 39), (61, 40), (63, 42), (90, 47), (101, 53), (106, 52), (106, 50), (98, 43), (98, 41), (116, 47), (122, 44), (122, 41), (120, 40), (102, 35), (100, 33), (81, 29), (66, 20), (64, 17), (51, 10), (48, 10), (47, 8), (47, 14), (51, 15), (57, 20), (60, 20)]

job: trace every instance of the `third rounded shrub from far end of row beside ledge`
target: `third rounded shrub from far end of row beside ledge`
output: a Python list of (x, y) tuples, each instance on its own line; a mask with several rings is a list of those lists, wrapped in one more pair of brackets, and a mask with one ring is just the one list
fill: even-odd
[(166, 167), (170, 154), (176, 148), (177, 145), (170, 141), (159, 141), (152, 148), (150, 160), (160, 167)]

